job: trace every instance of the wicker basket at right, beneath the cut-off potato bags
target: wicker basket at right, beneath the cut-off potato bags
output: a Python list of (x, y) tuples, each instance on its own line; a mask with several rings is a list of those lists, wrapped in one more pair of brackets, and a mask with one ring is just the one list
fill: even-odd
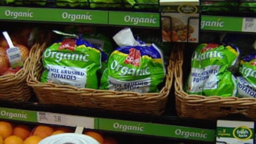
[(216, 120), (229, 114), (243, 114), (256, 121), (256, 99), (235, 96), (201, 96), (183, 91), (182, 64), (184, 45), (178, 45), (175, 63), (175, 99), (179, 117)]

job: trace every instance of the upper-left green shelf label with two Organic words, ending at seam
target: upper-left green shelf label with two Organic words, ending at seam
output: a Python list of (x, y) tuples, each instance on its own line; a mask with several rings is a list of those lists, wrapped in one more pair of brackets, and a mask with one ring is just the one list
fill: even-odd
[(1, 19), (107, 24), (107, 12), (81, 9), (0, 7)]

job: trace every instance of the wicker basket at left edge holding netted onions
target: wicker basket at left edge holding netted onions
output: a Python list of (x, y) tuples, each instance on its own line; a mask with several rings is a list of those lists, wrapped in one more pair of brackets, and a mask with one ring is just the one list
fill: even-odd
[(30, 70), (27, 59), (23, 68), (17, 73), (0, 76), (0, 99), (26, 102), (33, 96), (32, 88), (27, 85), (26, 81)]

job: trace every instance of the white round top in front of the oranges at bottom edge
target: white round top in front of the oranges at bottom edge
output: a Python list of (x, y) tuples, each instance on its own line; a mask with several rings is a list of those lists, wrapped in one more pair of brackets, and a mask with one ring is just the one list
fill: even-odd
[(40, 140), (39, 144), (100, 144), (94, 138), (78, 133), (61, 133), (57, 135), (51, 135), (43, 140)]

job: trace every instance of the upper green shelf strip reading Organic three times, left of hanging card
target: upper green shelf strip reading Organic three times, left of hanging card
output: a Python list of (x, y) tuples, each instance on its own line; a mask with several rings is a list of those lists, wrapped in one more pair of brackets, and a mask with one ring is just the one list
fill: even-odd
[(0, 6), (0, 20), (159, 28), (160, 14), (159, 12)]

